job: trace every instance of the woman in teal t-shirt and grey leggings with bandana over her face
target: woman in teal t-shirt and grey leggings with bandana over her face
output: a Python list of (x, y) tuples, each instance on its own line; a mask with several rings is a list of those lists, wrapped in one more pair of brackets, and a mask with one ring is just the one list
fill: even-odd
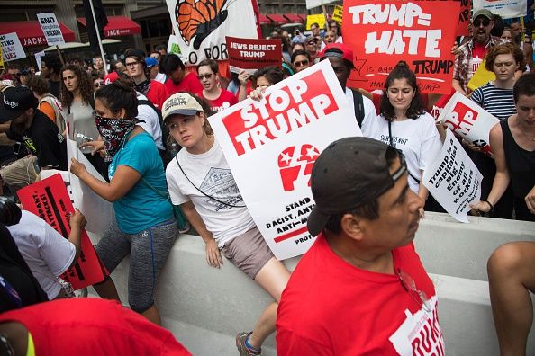
[[(130, 307), (159, 325), (156, 279), (177, 236), (173, 208), (159, 194), (168, 189), (163, 164), (152, 137), (136, 126), (138, 99), (131, 82), (119, 79), (96, 91), (95, 112), (111, 161), (110, 182), (99, 181), (74, 158), (70, 172), (113, 202), (115, 221), (96, 245), (96, 253), (110, 272), (130, 254)], [(94, 287), (102, 298), (119, 300), (110, 278)]]

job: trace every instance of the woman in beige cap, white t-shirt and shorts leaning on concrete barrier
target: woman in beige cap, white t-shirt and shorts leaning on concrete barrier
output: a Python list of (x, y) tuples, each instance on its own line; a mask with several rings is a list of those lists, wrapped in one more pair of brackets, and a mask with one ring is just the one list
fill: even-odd
[(203, 238), (206, 262), (219, 268), (222, 252), (275, 299), (252, 332), (236, 336), (240, 354), (260, 354), (264, 340), (275, 332), (278, 301), (290, 272), (271, 253), (243, 203), (222, 148), (206, 119), (209, 104), (188, 93), (176, 93), (163, 108), (169, 133), (184, 147), (166, 169), (168, 191), (173, 204), (180, 205)]

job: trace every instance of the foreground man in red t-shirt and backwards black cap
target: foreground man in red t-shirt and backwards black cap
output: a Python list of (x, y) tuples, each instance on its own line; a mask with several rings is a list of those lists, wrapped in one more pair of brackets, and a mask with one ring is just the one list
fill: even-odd
[(277, 311), (277, 355), (444, 355), (431, 279), (414, 251), (423, 201), (396, 149), (325, 148), (311, 176), (316, 241)]

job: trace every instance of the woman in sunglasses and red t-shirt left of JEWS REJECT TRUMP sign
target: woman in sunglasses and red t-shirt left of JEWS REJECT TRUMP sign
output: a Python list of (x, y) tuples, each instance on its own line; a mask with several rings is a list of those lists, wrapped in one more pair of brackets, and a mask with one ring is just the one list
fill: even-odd
[(223, 111), (238, 102), (236, 96), (218, 85), (219, 66), (213, 59), (204, 59), (197, 66), (198, 78), (203, 85), (199, 96), (205, 99), (213, 111)]

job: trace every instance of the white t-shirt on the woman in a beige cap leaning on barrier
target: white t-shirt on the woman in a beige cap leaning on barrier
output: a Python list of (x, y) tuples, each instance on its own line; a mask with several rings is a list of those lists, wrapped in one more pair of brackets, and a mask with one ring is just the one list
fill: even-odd
[[(182, 149), (177, 157), (184, 173), (195, 187), (228, 204), (245, 205), (217, 139), (204, 154), (192, 155)], [(220, 248), (232, 238), (255, 227), (247, 208), (229, 207), (197, 191), (180, 171), (176, 159), (168, 164), (166, 177), (173, 204), (179, 205), (191, 200)]]

